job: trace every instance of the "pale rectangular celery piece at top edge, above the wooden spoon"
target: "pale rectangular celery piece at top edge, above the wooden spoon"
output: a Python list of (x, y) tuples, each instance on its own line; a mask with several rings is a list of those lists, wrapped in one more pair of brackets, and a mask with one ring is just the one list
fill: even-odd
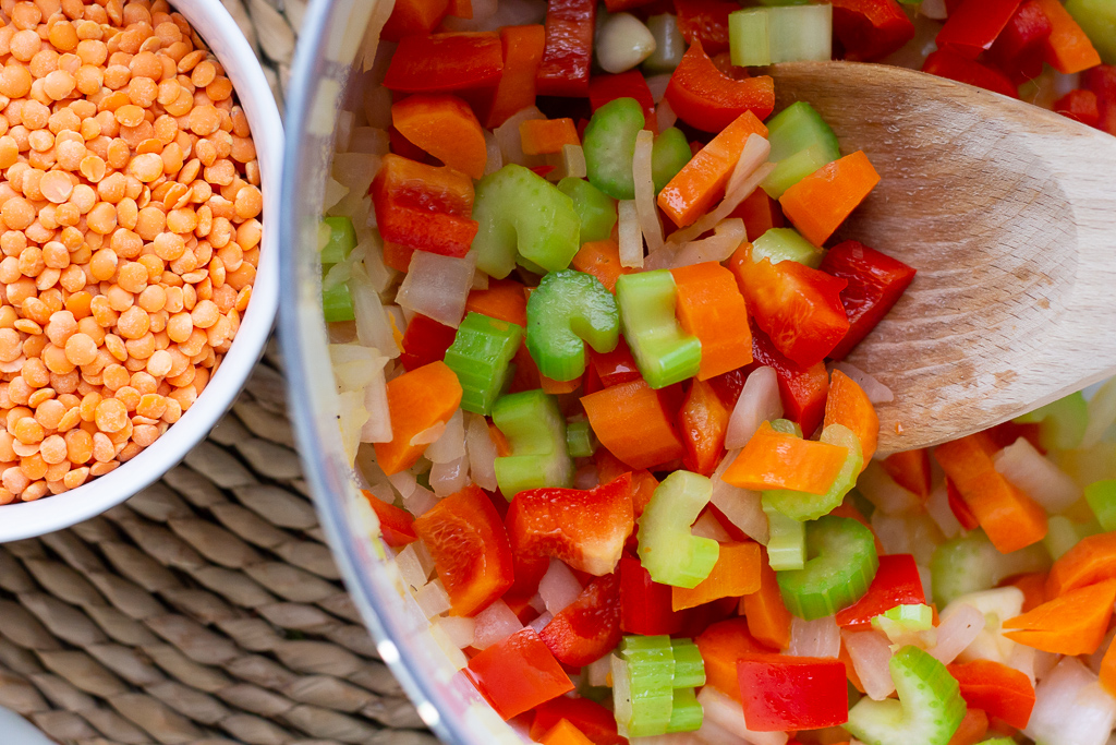
[(729, 54), (741, 67), (833, 57), (833, 6), (745, 8), (729, 13)]

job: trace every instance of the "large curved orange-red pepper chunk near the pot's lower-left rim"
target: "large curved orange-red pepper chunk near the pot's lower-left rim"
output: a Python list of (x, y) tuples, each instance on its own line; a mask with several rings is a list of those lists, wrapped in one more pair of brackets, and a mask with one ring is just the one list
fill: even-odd
[(514, 580), (508, 533), (483, 489), (470, 485), (440, 500), (414, 523), (453, 606), (472, 615)]

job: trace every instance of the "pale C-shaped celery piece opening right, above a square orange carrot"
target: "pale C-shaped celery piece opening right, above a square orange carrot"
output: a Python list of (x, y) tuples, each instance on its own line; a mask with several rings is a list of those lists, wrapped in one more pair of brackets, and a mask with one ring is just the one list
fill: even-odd
[(713, 571), (720, 545), (690, 532), (711, 496), (712, 481), (685, 470), (674, 471), (655, 489), (639, 516), (637, 550), (652, 580), (693, 589)]

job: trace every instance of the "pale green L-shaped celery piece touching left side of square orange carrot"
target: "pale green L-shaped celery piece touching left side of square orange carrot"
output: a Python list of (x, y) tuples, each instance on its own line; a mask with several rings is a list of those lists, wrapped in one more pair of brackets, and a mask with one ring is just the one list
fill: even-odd
[(624, 338), (647, 384), (666, 388), (693, 378), (701, 365), (701, 342), (682, 331), (674, 316), (677, 290), (667, 269), (622, 275), (616, 280)]

